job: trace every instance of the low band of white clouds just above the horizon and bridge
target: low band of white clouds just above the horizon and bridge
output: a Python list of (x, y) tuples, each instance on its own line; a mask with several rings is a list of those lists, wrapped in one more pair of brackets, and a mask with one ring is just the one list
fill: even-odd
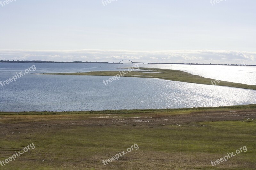
[(256, 64), (256, 52), (225, 50), (0, 50), (1, 60)]

